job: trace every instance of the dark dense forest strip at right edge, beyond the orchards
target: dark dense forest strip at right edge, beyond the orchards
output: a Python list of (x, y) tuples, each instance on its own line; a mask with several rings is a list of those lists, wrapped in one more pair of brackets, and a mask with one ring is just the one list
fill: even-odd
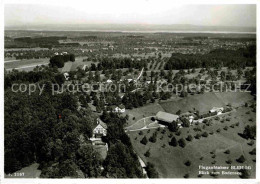
[(208, 54), (172, 54), (165, 64), (165, 70), (180, 70), (208, 67), (229, 67), (230, 69), (256, 66), (256, 46), (246, 49), (216, 49)]

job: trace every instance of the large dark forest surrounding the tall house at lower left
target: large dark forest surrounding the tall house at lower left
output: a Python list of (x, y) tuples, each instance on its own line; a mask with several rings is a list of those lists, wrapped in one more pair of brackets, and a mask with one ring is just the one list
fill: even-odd
[[(59, 80), (57, 76), (60, 73), (49, 67), (30, 73), (5, 73), (5, 173), (37, 162), (43, 178), (77, 178), (79, 170), (87, 178), (143, 177), (137, 155), (123, 130), (126, 120), (104, 112), (102, 119), (108, 124), (104, 141), (109, 144), (109, 151), (102, 160), (88, 141), (97, 116), (88, 107), (78, 108), (77, 94), (53, 95), (50, 86)], [(11, 90), (12, 84), (26, 81), (45, 84), (46, 90), (41, 95)]]

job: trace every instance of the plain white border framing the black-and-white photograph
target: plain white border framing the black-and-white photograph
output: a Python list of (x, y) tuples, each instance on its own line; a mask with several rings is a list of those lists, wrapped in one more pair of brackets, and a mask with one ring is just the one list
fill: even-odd
[[(0, 56), (1, 56), (1, 66), (0, 67), (0, 80), (1, 80), (1, 115), (0, 115), (0, 183), (4, 184), (16, 184), (16, 183), (22, 183), (22, 184), (50, 184), (50, 183), (62, 183), (62, 184), (71, 184), (71, 183), (117, 183), (117, 184), (144, 184), (144, 183), (178, 183), (178, 184), (186, 184), (186, 183), (198, 183), (198, 184), (223, 184), (223, 183), (232, 183), (232, 184), (248, 184), (248, 183), (260, 183), (259, 178), (259, 157), (260, 157), (260, 142), (258, 140), (260, 127), (257, 126), (257, 156), (256, 156), (256, 179), (248, 179), (248, 180), (242, 180), (242, 179), (4, 179), (4, 4), (56, 4), (59, 3), (62, 4), (69, 4), (69, 3), (84, 3), (84, 6), (87, 6), (87, 4), (91, 3), (94, 0), (42, 0), (42, 1), (36, 1), (36, 0), (0, 0)], [(123, 1), (123, 0), (98, 0), (98, 1), (111, 1), (111, 3)], [(138, 2), (140, 1), (161, 1), (164, 2), (171, 2), (173, 4), (257, 4), (257, 20), (259, 19), (259, 1), (257, 0), (132, 0), (132, 3), (135, 3), (138, 6)], [(257, 21), (258, 22), (258, 21)], [(257, 33), (259, 33), (259, 27), (257, 26)], [(259, 49), (259, 34), (257, 34), (257, 60), (260, 57), (260, 49)], [(259, 81), (259, 66), (257, 64), (257, 81)], [(257, 85), (257, 96), (259, 97), (259, 85)], [(257, 104), (259, 104), (259, 98), (257, 98)], [(259, 116), (258, 114), (260, 109), (257, 106), (257, 121), (258, 122)]]

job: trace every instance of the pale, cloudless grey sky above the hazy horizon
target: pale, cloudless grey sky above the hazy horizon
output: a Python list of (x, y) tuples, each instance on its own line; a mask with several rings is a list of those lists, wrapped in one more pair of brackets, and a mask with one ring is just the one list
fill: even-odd
[[(164, 0), (93, 0), (5, 4), (5, 26), (43, 24), (193, 24), (256, 27), (253, 4), (174, 4)], [(61, 1), (60, 1), (61, 2)]]

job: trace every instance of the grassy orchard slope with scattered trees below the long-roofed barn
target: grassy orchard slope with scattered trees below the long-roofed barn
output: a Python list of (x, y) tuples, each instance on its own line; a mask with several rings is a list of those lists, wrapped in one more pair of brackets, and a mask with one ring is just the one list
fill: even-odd
[[(248, 113), (249, 112), (249, 113)], [(226, 120), (229, 117), (230, 120)], [(191, 178), (197, 178), (199, 174), (199, 165), (212, 166), (212, 162), (215, 161), (214, 165), (217, 166), (237, 166), (244, 165), (250, 166), (252, 169), (251, 177), (255, 178), (255, 155), (249, 154), (249, 152), (255, 148), (248, 145), (249, 140), (243, 139), (238, 135), (242, 133), (245, 125), (254, 124), (256, 114), (252, 112), (249, 107), (242, 107), (237, 109), (236, 112), (232, 112), (230, 115), (222, 116), (224, 119), (223, 123), (220, 120), (213, 120), (212, 125), (203, 127), (202, 124), (195, 125), (189, 128), (182, 128), (181, 135), (173, 135), (177, 140), (180, 138), (186, 138), (187, 135), (196, 135), (196, 131), (193, 130), (194, 127), (200, 127), (202, 132), (213, 132), (213, 135), (208, 135), (208, 137), (201, 137), (200, 139), (193, 139), (192, 142), (186, 141), (186, 146), (184, 148), (177, 146), (173, 147), (169, 145), (171, 140), (171, 132), (168, 130), (163, 133), (162, 129), (160, 131), (145, 130), (143, 135), (139, 132), (128, 132), (131, 142), (134, 146), (137, 154), (145, 161), (151, 162), (155, 165), (159, 176), (161, 178), (183, 178), (185, 174), (189, 174)], [(251, 119), (251, 121), (249, 120)], [(239, 122), (238, 126), (231, 128), (230, 126)], [(227, 126), (228, 130), (223, 128)], [(221, 129), (218, 133), (216, 130)], [(146, 136), (147, 139), (153, 134), (153, 132), (158, 131), (156, 143), (151, 143), (148, 141), (147, 145), (140, 143), (140, 140)], [(230, 150), (230, 154), (225, 154), (224, 151)], [(150, 157), (145, 157), (144, 153), (150, 150)], [(241, 164), (236, 161), (240, 155), (244, 155), (246, 161)], [(232, 160), (232, 164), (227, 164), (228, 159)], [(184, 163), (189, 160), (191, 162), (190, 166), (186, 166)], [(232, 171), (232, 170), (226, 170)], [(237, 170), (233, 170), (237, 171)], [(210, 175), (203, 175), (203, 178), (210, 178)], [(219, 178), (238, 178), (237, 175), (219, 175)]]

